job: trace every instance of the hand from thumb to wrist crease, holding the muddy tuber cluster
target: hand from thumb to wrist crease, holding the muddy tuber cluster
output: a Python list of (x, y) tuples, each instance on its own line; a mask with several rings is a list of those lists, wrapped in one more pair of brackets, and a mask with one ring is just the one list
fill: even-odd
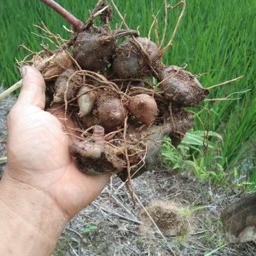
[[(66, 135), (60, 122), (64, 111), (58, 109), (55, 116), (43, 111), (44, 92), (41, 73), (26, 66), (20, 96), (8, 115), (7, 175), (48, 193), (72, 218), (99, 195), (109, 176), (78, 170), (69, 152), (75, 137)], [(73, 127), (71, 121), (69, 126)]]

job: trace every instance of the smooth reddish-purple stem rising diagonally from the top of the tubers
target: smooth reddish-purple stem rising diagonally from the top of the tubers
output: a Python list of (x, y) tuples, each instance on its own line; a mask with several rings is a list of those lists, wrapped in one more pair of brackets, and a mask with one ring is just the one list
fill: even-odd
[(59, 15), (62, 15), (65, 20), (67, 20), (75, 29), (83, 29), (83, 22), (78, 20), (75, 16), (65, 10), (59, 3), (56, 3), (54, 0), (40, 0), (45, 3), (47, 6), (55, 10)]

